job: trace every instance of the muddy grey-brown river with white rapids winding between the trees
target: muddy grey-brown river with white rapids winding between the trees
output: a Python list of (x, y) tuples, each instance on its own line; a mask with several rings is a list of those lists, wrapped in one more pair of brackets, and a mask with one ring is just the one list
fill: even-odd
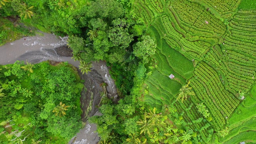
[[(0, 64), (13, 64), (16, 60), (39, 63), (45, 60), (57, 62), (68, 62), (76, 68), (80, 65), (79, 61), (72, 59), (71, 50), (66, 48), (68, 37), (57, 37), (54, 34), (43, 33), (44, 36), (36, 35), (32, 37), (23, 37), (14, 42), (0, 46)], [(90, 116), (100, 115), (96, 106), (100, 101), (100, 83), (107, 84), (107, 91), (111, 97), (117, 98), (117, 90), (114, 80), (110, 77), (108, 67), (103, 61), (92, 62), (92, 72), (82, 76), (80, 70), (78, 73), (81, 78), (86, 80), (87, 91), (93, 92), (93, 106)], [(89, 84), (88, 84), (89, 83)], [(88, 97), (89, 92), (84, 92), (82, 97)], [(87, 93), (87, 94), (86, 94)], [(81, 97), (81, 100), (82, 100)], [(85, 99), (85, 98), (84, 98)], [(84, 102), (86, 104), (86, 102)], [(99, 140), (95, 124), (86, 125), (77, 135), (70, 140), (69, 144), (96, 144)]]

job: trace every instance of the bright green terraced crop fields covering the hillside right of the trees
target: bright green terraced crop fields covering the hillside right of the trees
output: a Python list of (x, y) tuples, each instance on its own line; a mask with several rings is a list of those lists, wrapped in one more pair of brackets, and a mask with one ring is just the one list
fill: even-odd
[[(256, 77), (256, 10), (246, 9), (245, 1), (137, 0), (133, 5), (157, 42), (157, 68), (145, 82), (144, 100), (159, 110), (174, 103), (184, 127), (197, 132), (194, 139), (201, 143), (216, 143), (216, 133), (226, 127), (230, 134), (219, 136), (219, 142), (256, 142), (256, 114), (249, 112), (256, 93), (241, 100)], [(175, 102), (188, 81), (196, 95)], [(195, 122), (203, 118), (196, 108), (202, 102), (212, 120)]]

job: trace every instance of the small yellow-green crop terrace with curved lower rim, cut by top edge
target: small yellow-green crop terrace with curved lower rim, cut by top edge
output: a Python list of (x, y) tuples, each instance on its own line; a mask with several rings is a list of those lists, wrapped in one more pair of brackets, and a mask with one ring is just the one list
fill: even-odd
[(228, 2), (223, 2), (223, 0), (202, 0), (207, 3), (209, 6), (212, 6), (215, 10), (217, 10), (220, 14), (224, 14), (226, 12), (233, 12), (240, 4), (241, 0), (229, 0)]

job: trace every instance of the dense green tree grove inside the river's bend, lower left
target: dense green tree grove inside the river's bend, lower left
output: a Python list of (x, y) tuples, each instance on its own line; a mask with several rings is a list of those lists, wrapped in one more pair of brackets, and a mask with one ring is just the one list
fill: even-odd
[[(22, 69), (26, 69), (26, 66), (32, 67), (33, 73), (26, 74)], [(0, 93), (4, 92), (0, 101), (0, 121), (3, 125), (9, 125), (4, 130), (12, 134), (25, 130), (19, 137), (24, 139), (24, 143), (58, 144), (68, 142), (78, 132), (82, 126), (81, 110), (80, 104), (75, 101), (79, 100), (84, 86), (80, 84), (72, 66), (64, 63), (51, 66), (49, 62), (24, 65), (17, 61), (0, 66), (0, 69), (1, 75), (8, 72), (0, 77)], [(56, 102), (65, 102), (69, 106)], [(52, 111), (58, 116), (54, 116)], [(0, 143), (4, 144), (15, 137), (1, 137)]]

